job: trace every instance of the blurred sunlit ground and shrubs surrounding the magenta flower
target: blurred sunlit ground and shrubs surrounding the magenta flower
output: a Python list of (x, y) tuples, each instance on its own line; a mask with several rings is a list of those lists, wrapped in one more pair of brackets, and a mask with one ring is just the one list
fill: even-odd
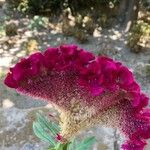
[[(56, 113), (5, 87), (8, 68), (30, 53), (71, 43), (122, 61), (150, 96), (150, 0), (0, 0), (0, 150), (43, 150), (32, 122), (38, 110)], [(88, 135), (97, 139), (93, 150), (119, 150), (123, 139), (98, 125), (79, 137)]]

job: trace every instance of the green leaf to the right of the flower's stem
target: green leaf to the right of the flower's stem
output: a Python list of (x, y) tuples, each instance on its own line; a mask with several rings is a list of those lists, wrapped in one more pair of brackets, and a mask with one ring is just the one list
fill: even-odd
[(95, 137), (88, 137), (84, 139), (81, 143), (78, 143), (77, 148), (75, 150), (87, 150), (92, 144), (95, 142)]

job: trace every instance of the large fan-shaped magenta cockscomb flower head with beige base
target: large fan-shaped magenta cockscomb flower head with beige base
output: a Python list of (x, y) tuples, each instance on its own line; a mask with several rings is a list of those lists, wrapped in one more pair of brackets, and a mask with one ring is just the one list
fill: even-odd
[(150, 138), (148, 98), (129, 69), (111, 58), (75, 45), (49, 47), (21, 59), (4, 82), (53, 104), (65, 139), (96, 123), (118, 128), (126, 137), (123, 150), (143, 150)]

